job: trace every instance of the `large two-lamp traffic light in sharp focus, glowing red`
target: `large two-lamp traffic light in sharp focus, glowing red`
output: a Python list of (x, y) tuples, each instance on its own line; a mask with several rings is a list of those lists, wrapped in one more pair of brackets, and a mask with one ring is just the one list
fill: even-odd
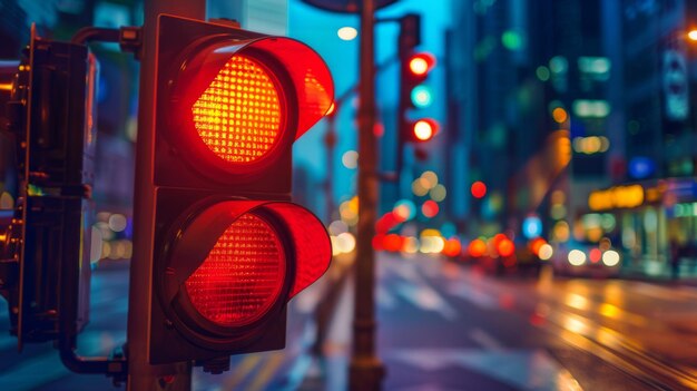
[(230, 354), (284, 348), (287, 302), (328, 267), (328, 235), (291, 180), (293, 143), (333, 84), (293, 39), (166, 14), (157, 29), (134, 231), (134, 262), (151, 262), (147, 355), (220, 372)]

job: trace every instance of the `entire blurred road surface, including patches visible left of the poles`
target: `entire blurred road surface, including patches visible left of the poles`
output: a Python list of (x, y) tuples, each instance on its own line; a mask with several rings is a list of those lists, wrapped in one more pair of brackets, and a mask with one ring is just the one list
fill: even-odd
[[(222, 375), (194, 373), (195, 390), (332, 390), (346, 384), (354, 286), (325, 278), (292, 301), (288, 346), (238, 355)], [(377, 350), (385, 390), (697, 389), (697, 289), (640, 281), (495, 278), (420, 255), (377, 257)], [(314, 360), (317, 304), (340, 289)], [(84, 354), (126, 336), (127, 267), (95, 274)], [(122, 388), (121, 388), (122, 389)], [(50, 344), (21, 354), (0, 304), (0, 390), (117, 390), (70, 373)]]

